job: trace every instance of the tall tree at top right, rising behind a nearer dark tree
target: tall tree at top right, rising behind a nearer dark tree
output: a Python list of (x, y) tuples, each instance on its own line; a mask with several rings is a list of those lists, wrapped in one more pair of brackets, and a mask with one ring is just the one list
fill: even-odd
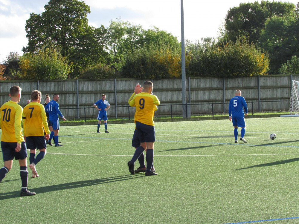
[(267, 19), (287, 15), (295, 16), (295, 4), (281, 1), (241, 3), (239, 7), (230, 8), (226, 15), (224, 38), (236, 42), (246, 37), (250, 44), (256, 44)]

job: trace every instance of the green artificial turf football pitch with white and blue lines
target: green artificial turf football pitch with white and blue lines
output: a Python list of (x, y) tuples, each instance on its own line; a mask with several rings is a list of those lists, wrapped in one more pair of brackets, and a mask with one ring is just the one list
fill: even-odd
[(35, 196), (17, 161), (0, 182), (0, 223), (299, 223), (298, 118), (246, 125), (235, 144), (228, 119), (157, 122), (150, 177), (128, 171), (134, 124), (61, 127), (64, 147), (29, 169)]

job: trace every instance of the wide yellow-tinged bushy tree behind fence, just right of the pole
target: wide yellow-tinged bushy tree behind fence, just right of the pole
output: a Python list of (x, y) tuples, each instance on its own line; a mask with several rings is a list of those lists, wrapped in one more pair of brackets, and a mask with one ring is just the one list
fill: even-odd
[[(196, 44), (190, 65), (186, 66), (188, 76), (242, 77), (264, 75), (269, 70), (269, 58), (266, 53), (257, 50), (246, 39), (236, 43), (228, 42), (217, 46)], [(197, 52), (198, 51), (198, 52)]]

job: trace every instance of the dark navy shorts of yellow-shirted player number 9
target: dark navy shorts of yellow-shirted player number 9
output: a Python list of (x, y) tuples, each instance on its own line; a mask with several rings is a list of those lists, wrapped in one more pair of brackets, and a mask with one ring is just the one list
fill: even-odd
[[(136, 142), (139, 140), (139, 145), (141, 142), (155, 142), (155, 126), (145, 125), (141, 122), (136, 122), (136, 128), (134, 131), (132, 146), (135, 147)], [(134, 141), (134, 145), (133, 145)], [(138, 145), (138, 146), (139, 146)], [(135, 147), (137, 148), (137, 147)]]

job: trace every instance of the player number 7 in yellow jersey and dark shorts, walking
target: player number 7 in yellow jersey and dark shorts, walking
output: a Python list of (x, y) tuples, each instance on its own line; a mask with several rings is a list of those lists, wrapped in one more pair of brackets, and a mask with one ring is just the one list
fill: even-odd
[[(41, 99), (42, 93), (39, 90), (33, 90), (31, 102), (24, 107), (22, 117), (26, 146), (30, 149), (29, 168), (32, 170), (32, 177), (39, 177), (35, 165), (45, 157), (46, 140), (50, 137), (45, 107), (40, 104)], [(39, 150), (39, 154), (35, 158), (36, 149)]]

